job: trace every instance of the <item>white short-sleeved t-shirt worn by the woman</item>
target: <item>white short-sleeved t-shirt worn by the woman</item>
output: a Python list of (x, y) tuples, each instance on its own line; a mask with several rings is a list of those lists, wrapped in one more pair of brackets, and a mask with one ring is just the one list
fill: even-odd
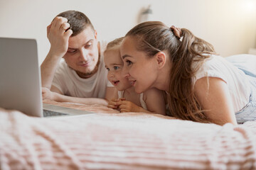
[[(196, 64), (193, 64), (195, 67)], [(218, 77), (228, 85), (228, 90), (233, 102), (234, 111), (240, 111), (250, 97), (250, 82), (242, 70), (225, 60), (225, 58), (212, 55), (196, 72), (192, 79), (193, 85), (202, 77)]]

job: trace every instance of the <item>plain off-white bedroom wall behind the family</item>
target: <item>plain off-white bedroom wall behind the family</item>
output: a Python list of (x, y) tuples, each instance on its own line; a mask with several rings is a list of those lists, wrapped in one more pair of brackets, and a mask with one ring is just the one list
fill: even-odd
[(58, 13), (82, 11), (99, 39), (110, 39), (135, 26), (142, 8), (149, 4), (153, 20), (188, 28), (224, 57), (256, 47), (255, 0), (0, 0), (0, 37), (36, 38), (41, 63), (50, 47), (46, 26)]

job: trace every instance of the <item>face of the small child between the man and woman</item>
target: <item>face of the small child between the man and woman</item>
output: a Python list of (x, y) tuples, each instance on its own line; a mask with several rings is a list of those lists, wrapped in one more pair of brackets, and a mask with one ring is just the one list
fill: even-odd
[(121, 75), (124, 62), (121, 59), (119, 48), (107, 50), (105, 52), (104, 62), (108, 71), (107, 79), (118, 91), (124, 91), (132, 86), (128, 79)]

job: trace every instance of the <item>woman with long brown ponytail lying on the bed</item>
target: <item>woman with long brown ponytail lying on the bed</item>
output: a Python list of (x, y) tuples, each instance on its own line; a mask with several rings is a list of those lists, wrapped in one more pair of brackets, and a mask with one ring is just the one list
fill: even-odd
[[(182, 37), (182, 38), (181, 38)], [(256, 80), (189, 30), (158, 21), (130, 30), (121, 45), (122, 74), (137, 93), (166, 91), (171, 115), (203, 123), (256, 119)]]

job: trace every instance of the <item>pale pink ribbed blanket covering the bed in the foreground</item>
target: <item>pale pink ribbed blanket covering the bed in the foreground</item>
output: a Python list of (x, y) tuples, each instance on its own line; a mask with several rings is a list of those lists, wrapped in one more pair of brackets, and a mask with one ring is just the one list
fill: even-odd
[(34, 118), (0, 108), (0, 169), (256, 169), (256, 122), (223, 126), (106, 106)]

